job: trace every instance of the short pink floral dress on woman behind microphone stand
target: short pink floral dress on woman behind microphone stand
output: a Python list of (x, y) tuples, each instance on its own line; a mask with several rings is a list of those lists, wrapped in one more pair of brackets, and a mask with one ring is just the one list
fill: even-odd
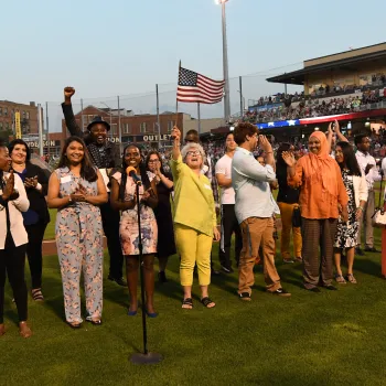
[[(149, 180), (154, 174), (148, 173)], [(120, 184), (121, 173), (116, 172), (112, 178)], [(136, 183), (130, 176), (127, 178), (125, 201), (131, 201), (136, 193)], [(139, 186), (139, 194), (143, 194), (143, 186)], [(141, 230), (143, 255), (157, 253), (158, 227), (153, 210), (148, 205), (140, 205)], [(138, 212), (137, 205), (132, 210), (124, 211), (120, 217), (119, 236), (124, 256), (139, 255), (138, 242)]]

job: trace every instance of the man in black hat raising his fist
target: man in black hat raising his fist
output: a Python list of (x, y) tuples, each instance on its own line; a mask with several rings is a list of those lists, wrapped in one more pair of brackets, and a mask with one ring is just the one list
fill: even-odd
[[(75, 88), (64, 88), (64, 103), (62, 109), (66, 126), (72, 136), (81, 137), (87, 144), (88, 152), (94, 164), (106, 176), (108, 182), (109, 171), (114, 168), (119, 168), (122, 163), (119, 146), (107, 140), (107, 132), (110, 130), (110, 125), (101, 117), (95, 117), (87, 126), (87, 133), (77, 125), (73, 106), (71, 103), (72, 96), (75, 94)], [(100, 206), (101, 221), (105, 236), (107, 238), (108, 253), (110, 255), (110, 271), (108, 279), (116, 281), (119, 286), (126, 286), (122, 278), (124, 256), (119, 240), (119, 212), (111, 208), (110, 203)]]

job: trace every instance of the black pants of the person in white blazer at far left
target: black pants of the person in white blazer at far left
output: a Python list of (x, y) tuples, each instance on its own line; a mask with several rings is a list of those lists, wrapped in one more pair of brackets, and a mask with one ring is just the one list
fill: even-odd
[(9, 234), (6, 248), (0, 250), (0, 324), (4, 314), (4, 287), (6, 275), (12, 287), (14, 302), (17, 303), (19, 321), (26, 321), (26, 285), (24, 280), (26, 244), (14, 246), (13, 238)]

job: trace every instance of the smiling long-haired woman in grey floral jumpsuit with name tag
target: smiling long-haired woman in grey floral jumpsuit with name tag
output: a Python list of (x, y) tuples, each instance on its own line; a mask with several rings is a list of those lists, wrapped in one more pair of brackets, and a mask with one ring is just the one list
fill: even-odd
[(86, 320), (101, 324), (103, 228), (98, 205), (108, 200), (103, 176), (89, 160), (86, 146), (69, 137), (58, 168), (50, 178), (49, 207), (57, 208), (56, 246), (61, 264), (66, 321), (82, 325), (79, 282), (83, 271)]

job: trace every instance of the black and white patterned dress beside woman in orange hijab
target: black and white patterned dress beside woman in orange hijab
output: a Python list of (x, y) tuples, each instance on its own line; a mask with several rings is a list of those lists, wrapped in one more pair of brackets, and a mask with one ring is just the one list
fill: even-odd
[(356, 247), (357, 233), (360, 229), (360, 224), (355, 219), (356, 204), (355, 204), (355, 196), (354, 196), (354, 183), (353, 183), (353, 176), (349, 175), (346, 170), (342, 170), (342, 179), (349, 195), (349, 204), (347, 204), (349, 222), (344, 223), (341, 217), (337, 219), (337, 228), (336, 228), (334, 247), (352, 248), (352, 247)]

